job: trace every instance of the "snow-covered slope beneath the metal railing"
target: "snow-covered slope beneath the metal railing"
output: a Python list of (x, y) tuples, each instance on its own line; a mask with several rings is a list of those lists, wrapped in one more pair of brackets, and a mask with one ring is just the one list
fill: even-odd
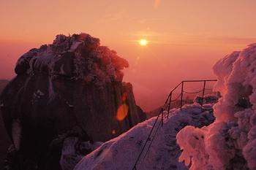
[[(208, 107), (211, 108), (212, 105)], [(156, 118), (152, 117), (150, 120), (139, 123), (121, 136), (105, 142), (97, 150), (86, 155), (75, 166), (75, 170), (132, 170)], [(198, 104), (185, 105), (182, 111), (171, 110), (169, 119), (165, 112), (164, 124), (159, 126), (157, 136), (147, 155), (145, 156), (146, 151), (143, 152), (137, 169), (188, 169), (184, 163), (178, 162), (181, 150), (176, 144), (176, 134), (186, 125), (201, 128), (213, 121), (213, 114), (203, 110)], [(158, 123), (161, 123), (161, 119), (158, 120), (156, 127)]]

